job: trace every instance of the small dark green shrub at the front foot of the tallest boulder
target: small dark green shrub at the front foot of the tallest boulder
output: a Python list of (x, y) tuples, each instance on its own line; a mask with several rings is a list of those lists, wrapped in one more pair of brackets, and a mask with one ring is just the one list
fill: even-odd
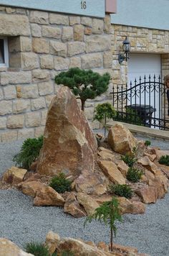
[(71, 191), (71, 181), (67, 180), (64, 173), (59, 173), (57, 176), (54, 176), (49, 183), (49, 186), (54, 188), (58, 193), (64, 193), (65, 191)]

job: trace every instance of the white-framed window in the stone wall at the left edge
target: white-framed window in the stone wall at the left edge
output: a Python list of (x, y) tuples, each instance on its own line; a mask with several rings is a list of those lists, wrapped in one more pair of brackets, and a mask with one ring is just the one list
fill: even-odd
[(8, 40), (0, 37), (0, 67), (9, 66)]

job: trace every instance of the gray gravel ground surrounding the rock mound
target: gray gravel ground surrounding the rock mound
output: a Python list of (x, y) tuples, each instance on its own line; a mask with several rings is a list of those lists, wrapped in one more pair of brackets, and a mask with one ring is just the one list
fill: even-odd
[[(146, 138), (145, 138), (146, 140)], [(12, 163), (22, 142), (0, 143), (0, 173)], [(168, 150), (167, 143), (153, 141), (153, 145)], [(152, 256), (169, 255), (169, 194), (156, 204), (147, 206), (143, 215), (127, 214), (117, 224), (115, 242), (137, 247), (139, 252)], [(109, 242), (109, 229), (97, 221), (83, 228), (84, 218), (74, 219), (59, 207), (34, 207), (32, 198), (16, 190), (0, 190), (0, 237), (6, 237), (20, 247), (26, 242), (44, 241), (52, 230), (62, 237), (80, 237), (94, 242)]]

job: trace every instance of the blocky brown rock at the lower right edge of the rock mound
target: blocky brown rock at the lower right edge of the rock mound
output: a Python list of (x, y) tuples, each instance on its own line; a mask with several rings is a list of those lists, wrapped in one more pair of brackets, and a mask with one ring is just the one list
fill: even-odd
[(142, 199), (143, 203), (151, 204), (158, 200), (158, 189), (154, 186), (149, 186), (147, 188), (140, 188), (135, 191), (138, 196)]

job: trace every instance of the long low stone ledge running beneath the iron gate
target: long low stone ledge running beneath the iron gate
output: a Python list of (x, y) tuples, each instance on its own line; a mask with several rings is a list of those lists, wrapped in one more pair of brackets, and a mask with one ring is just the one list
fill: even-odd
[[(107, 128), (110, 128), (114, 126), (115, 124), (119, 124), (120, 122), (117, 121), (110, 121), (107, 122)], [(127, 123), (122, 123), (125, 127), (127, 127), (130, 132), (134, 134), (140, 134), (140, 135), (145, 135), (147, 137), (153, 137), (155, 139), (162, 139), (162, 140), (168, 140), (169, 141), (169, 131), (164, 131), (164, 130), (159, 130), (159, 129), (152, 129), (148, 127), (141, 127), (135, 124), (127, 124)]]

